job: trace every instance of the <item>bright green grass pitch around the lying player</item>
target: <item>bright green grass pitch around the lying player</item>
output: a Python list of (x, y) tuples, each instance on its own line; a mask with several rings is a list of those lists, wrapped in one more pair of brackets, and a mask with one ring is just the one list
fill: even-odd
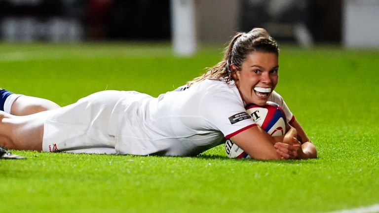
[[(0, 86), (67, 105), (105, 89), (158, 96), (199, 75), (222, 46), (177, 58), (167, 43), (0, 44)], [(321, 213), (379, 203), (379, 52), (282, 46), (277, 91), (318, 159), (13, 151), (0, 212)]]

